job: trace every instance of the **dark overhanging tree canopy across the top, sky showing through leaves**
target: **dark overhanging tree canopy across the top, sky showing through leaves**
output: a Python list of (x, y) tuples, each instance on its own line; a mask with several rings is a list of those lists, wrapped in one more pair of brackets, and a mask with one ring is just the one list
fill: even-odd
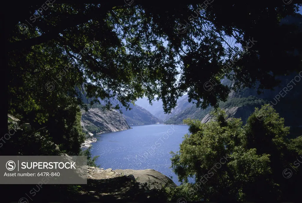
[[(293, 53), (300, 51), (300, 32), (296, 25), (280, 25), (297, 5), (217, 0), (201, 5), (202, 10), (198, 3), (56, 0), (41, 11), (40, 1), (9, 2), (3, 14), (10, 16), (13, 9), (15, 15), (4, 22), (6, 68), (1, 82), (9, 103), (3, 105), (2, 118), (7, 120), (13, 109), (10, 103), (17, 103), (22, 91), (37, 94), (25, 96), (28, 104), (37, 105), (63, 92), (74, 96), (74, 87), (84, 84), (87, 96), (105, 100), (108, 108), (112, 97), (128, 107), (138, 97), (152, 101), (157, 95), (165, 112), (170, 112), (185, 91), (203, 108), (226, 100), (229, 87), (219, 80), (223, 75), (236, 80), (234, 88), (252, 87), (257, 79), (261, 89), (276, 86), (274, 76), (286, 73), (283, 67), (299, 70), (300, 56)], [(179, 26), (188, 17), (191, 26)], [(30, 23), (28, 30), (19, 26), (26, 23), (24, 18)], [(243, 53), (239, 51), (243, 46), (252, 47)], [(224, 71), (233, 55), (237, 60)], [(72, 68), (63, 70), (68, 64)], [(210, 78), (217, 84), (205, 91)], [(50, 81), (60, 86), (52, 93), (44, 88)], [(32, 89), (22, 89), (24, 82)], [(48, 83), (47, 88), (52, 86)], [(18, 95), (12, 92), (14, 87), (19, 88)], [(6, 125), (2, 131), (6, 133)]]

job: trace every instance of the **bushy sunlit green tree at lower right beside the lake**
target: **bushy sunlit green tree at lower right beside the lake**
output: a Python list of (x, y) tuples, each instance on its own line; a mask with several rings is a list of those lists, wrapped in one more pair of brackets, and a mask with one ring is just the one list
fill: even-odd
[[(186, 120), (190, 134), (185, 135), (179, 152), (171, 152), (172, 168), (185, 183), (182, 190), (188, 191), (190, 199), (299, 200), (294, 192), (301, 189), (297, 165), (293, 166), (295, 178), (282, 174), (299, 157), (302, 136), (288, 140), (289, 127), (271, 106), (255, 108), (245, 126), (240, 119), (226, 119), (219, 109), (214, 118), (205, 124)], [(188, 183), (189, 177), (195, 179), (194, 184)]]

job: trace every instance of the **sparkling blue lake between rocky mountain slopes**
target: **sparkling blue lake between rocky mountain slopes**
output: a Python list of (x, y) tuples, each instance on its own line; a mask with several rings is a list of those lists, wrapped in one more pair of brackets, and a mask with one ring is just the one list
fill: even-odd
[(154, 169), (173, 177), (179, 185), (177, 175), (172, 172), (170, 151), (179, 151), (187, 125), (138, 125), (132, 129), (97, 135), (92, 143), (92, 156), (100, 155), (97, 164), (108, 169)]

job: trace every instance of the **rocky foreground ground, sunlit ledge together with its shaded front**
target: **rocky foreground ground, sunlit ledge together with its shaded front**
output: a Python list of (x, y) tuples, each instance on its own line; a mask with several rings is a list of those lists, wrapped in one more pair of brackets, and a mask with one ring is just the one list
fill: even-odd
[[(161, 202), (165, 198), (165, 194), (159, 190), (162, 185), (153, 182), (176, 187), (171, 179), (152, 169), (112, 171), (87, 166), (87, 171), (87, 184), (79, 188), (81, 195), (73, 195), (68, 202)], [(145, 178), (147, 176), (150, 181)]]

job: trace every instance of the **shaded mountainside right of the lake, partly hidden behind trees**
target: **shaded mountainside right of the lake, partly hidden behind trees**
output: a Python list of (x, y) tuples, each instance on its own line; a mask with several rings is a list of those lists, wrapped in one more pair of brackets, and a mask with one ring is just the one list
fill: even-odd
[[(300, 72), (301, 75), (302, 72)], [(280, 84), (274, 90), (263, 90), (258, 94), (257, 89), (242, 88), (238, 91), (231, 91), (226, 102), (220, 102), (220, 107), (226, 110), (229, 117), (241, 118), (243, 123), (254, 112), (255, 107), (265, 103), (273, 105), (277, 113), (284, 118), (284, 124), (291, 127), (291, 134), (298, 136), (302, 134), (302, 80), (298, 73), (284, 76), (276, 76)], [(301, 80), (301, 81), (300, 81)], [(228, 79), (221, 81), (224, 85), (233, 86), (233, 82)], [(256, 87), (259, 83), (256, 83)], [(203, 123), (211, 119), (209, 113), (214, 110), (211, 106), (203, 110), (191, 106), (181, 113), (170, 117), (165, 123), (182, 123), (187, 118), (202, 120)]]

